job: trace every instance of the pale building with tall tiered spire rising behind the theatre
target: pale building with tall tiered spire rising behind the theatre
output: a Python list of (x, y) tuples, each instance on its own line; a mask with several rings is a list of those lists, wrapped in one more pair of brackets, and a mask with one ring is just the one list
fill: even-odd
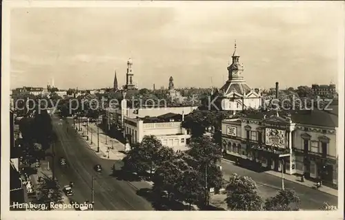
[(255, 89), (251, 89), (242, 76), (244, 68), (239, 63), (236, 43), (232, 58), (233, 63), (227, 68), (228, 80), (217, 92), (217, 95), (221, 96), (221, 109), (232, 111), (248, 108), (259, 109), (262, 104), (261, 94), (257, 93)]

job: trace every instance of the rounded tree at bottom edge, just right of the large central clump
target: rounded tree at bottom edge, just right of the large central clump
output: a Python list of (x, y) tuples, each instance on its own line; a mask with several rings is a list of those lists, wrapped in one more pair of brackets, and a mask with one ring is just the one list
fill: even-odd
[(225, 199), (230, 210), (262, 210), (262, 198), (257, 192), (255, 181), (250, 177), (234, 174), (226, 186)]

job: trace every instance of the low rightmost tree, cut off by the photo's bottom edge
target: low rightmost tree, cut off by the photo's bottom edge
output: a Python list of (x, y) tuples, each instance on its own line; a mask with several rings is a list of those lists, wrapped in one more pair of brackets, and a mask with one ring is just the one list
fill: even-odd
[(299, 210), (300, 199), (294, 190), (280, 190), (277, 195), (265, 201), (265, 210), (288, 211)]

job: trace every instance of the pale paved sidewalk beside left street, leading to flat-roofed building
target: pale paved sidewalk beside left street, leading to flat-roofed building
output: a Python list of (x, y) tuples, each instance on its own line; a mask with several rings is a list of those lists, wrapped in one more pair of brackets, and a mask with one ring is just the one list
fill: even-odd
[[(79, 124), (76, 124), (79, 128)], [(88, 124), (88, 140), (87, 139), (87, 126), (80, 125), (81, 131), (78, 131), (79, 135), (88, 143), (88, 146), (95, 151), (96, 155), (103, 159), (113, 159), (119, 160), (125, 157), (124, 153), (119, 151), (124, 151), (124, 144), (119, 142), (114, 138), (110, 138), (105, 135), (101, 129), (99, 129), (99, 153), (97, 153), (97, 126), (94, 123)], [(91, 137), (92, 136), (92, 137)], [(92, 140), (92, 144), (91, 144)], [(107, 143), (107, 144), (106, 144)], [(111, 146), (114, 148), (112, 149)], [(107, 152), (109, 150), (109, 152)]]

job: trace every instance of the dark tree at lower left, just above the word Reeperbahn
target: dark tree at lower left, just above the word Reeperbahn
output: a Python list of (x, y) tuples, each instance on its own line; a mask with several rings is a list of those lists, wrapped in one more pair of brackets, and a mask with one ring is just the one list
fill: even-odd
[(63, 192), (57, 179), (46, 175), (42, 177), (38, 188), (38, 203), (43, 203), (50, 207), (50, 202), (62, 203), (62, 195)]

